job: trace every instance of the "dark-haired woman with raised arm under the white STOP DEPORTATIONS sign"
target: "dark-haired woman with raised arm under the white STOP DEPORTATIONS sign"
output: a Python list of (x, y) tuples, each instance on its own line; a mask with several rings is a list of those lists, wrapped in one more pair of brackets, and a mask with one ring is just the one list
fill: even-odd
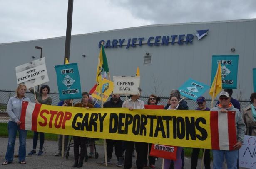
[[(42, 85), (40, 87), (39, 92), (34, 92), (34, 90), (32, 88), (29, 89), (30, 92), (32, 92), (33, 94), (35, 94), (36, 99), (35, 102), (39, 103), (39, 104), (48, 104), (51, 105), (52, 104), (52, 98), (49, 96), (49, 92), (50, 92), (50, 87), (48, 85)], [(43, 145), (45, 142), (45, 133), (42, 132), (37, 132), (34, 131), (34, 136), (33, 136), (33, 149), (28, 153), (28, 155), (35, 155), (36, 154), (36, 147), (37, 147), (37, 140), (38, 140), (38, 135), (39, 135), (39, 152), (37, 155), (43, 155)]]

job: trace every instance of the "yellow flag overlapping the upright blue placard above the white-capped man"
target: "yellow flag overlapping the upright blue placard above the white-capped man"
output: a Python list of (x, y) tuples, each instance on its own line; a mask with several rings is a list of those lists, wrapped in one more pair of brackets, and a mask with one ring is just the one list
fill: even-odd
[(222, 79), (221, 79), (221, 63), (218, 64), (217, 72), (211, 85), (209, 94), (215, 98), (222, 90)]

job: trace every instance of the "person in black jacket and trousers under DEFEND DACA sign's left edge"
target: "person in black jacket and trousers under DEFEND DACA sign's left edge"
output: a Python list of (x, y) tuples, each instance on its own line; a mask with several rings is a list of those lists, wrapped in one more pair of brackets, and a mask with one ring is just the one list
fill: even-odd
[[(113, 94), (112, 98), (106, 103), (104, 103), (103, 107), (104, 108), (114, 108), (114, 107), (121, 108), (122, 104), (123, 104), (123, 101), (120, 99), (120, 95)], [(122, 141), (106, 139), (106, 142), (107, 142), (107, 163), (110, 163), (110, 159), (112, 158), (112, 152), (114, 147), (115, 155), (117, 156), (117, 160), (118, 160), (116, 165), (118, 167), (122, 167), (124, 165)], [(105, 159), (101, 164), (105, 164)]]

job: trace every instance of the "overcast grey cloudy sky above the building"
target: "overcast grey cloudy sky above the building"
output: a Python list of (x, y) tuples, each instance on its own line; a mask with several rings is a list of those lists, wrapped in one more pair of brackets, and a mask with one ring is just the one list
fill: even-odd
[[(66, 35), (68, 0), (0, 0), (0, 43)], [(256, 18), (256, 0), (74, 0), (72, 35)]]

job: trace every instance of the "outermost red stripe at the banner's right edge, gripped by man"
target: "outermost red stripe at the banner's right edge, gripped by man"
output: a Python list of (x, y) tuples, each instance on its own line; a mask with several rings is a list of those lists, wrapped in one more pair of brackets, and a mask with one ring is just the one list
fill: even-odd
[(233, 146), (237, 142), (235, 116), (235, 111), (228, 111), (229, 150), (233, 150)]

